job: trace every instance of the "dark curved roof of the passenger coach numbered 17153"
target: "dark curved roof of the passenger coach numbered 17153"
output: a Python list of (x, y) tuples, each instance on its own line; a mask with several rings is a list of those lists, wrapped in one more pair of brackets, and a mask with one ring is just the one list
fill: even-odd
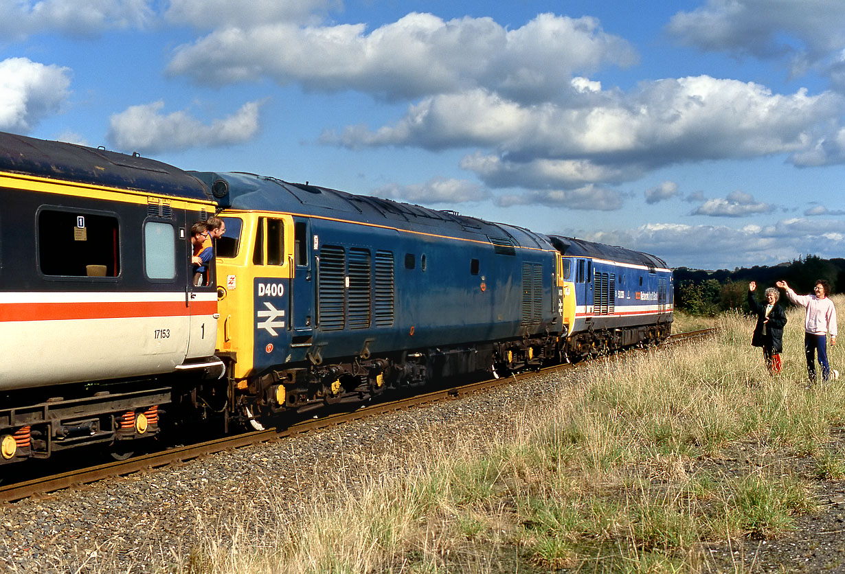
[(211, 199), (201, 181), (161, 161), (14, 133), (0, 132), (0, 171), (180, 198)]

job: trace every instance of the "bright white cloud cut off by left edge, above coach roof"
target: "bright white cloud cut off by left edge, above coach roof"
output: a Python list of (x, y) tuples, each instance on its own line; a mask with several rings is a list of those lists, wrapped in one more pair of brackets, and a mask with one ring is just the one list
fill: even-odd
[(0, 62), (0, 129), (27, 133), (70, 95), (70, 69), (12, 57)]

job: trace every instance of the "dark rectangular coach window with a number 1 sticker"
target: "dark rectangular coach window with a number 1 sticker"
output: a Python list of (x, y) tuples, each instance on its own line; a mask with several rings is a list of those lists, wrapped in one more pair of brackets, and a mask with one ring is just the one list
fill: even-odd
[(38, 214), (38, 265), (60, 277), (117, 277), (117, 216), (43, 209)]

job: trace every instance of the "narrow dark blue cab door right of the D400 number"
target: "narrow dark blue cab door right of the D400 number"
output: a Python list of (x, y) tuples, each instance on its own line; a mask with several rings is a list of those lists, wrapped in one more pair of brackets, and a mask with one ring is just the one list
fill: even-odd
[(309, 346), (313, 336), (313, 257), (318, 247), (317, 236), (311, 235), (311, 222), (306, 218), (293, 218), (293, 278), (288, 294), (291, 298), (292, 346)]

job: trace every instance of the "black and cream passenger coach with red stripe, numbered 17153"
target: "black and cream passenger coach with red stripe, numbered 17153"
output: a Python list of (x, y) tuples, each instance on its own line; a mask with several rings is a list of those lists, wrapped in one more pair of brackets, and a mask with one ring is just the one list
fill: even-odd
[(119, 456), (178, 381), (221, 374), (215, 286), (189, 280), (187, 234), (215, 209), (194, 176), (0, 133), (0, 205), (0, 463)]

